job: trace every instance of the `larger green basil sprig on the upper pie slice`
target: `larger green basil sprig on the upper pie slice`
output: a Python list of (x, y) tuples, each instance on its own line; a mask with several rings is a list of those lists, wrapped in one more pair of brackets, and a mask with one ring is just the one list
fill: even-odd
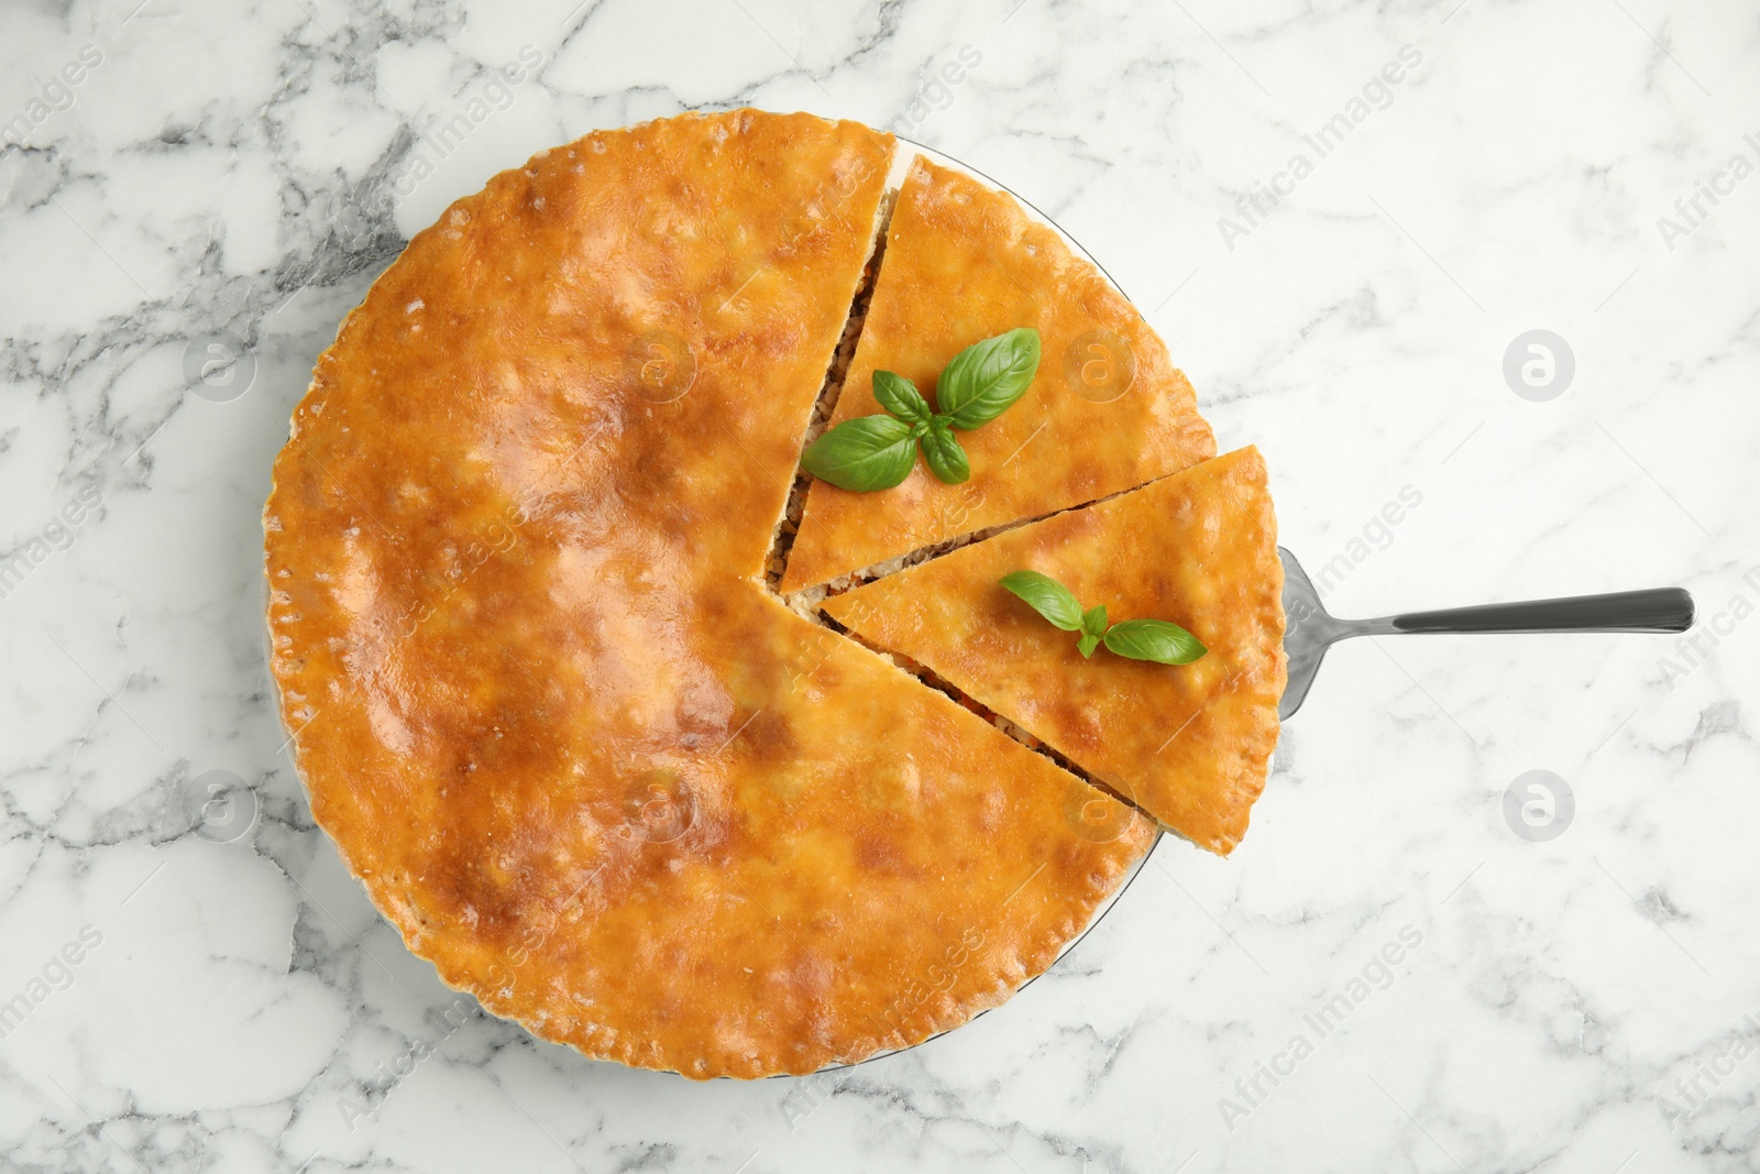
[(801, 466), (840, 489), (891, 489), (910, 477), (920, 447), (929, 472), (957, 486), (972, 477), (972, 461), (954, 429), (977, 428), (1007, 412), (1037, 371), (1038, 331), (1031, 327), (986, 338), (954, 356), (935, 382), (938, 414), (908, 378), (875, 371), (875, 400), (887, 415), (843, 421), (806, 445)]

